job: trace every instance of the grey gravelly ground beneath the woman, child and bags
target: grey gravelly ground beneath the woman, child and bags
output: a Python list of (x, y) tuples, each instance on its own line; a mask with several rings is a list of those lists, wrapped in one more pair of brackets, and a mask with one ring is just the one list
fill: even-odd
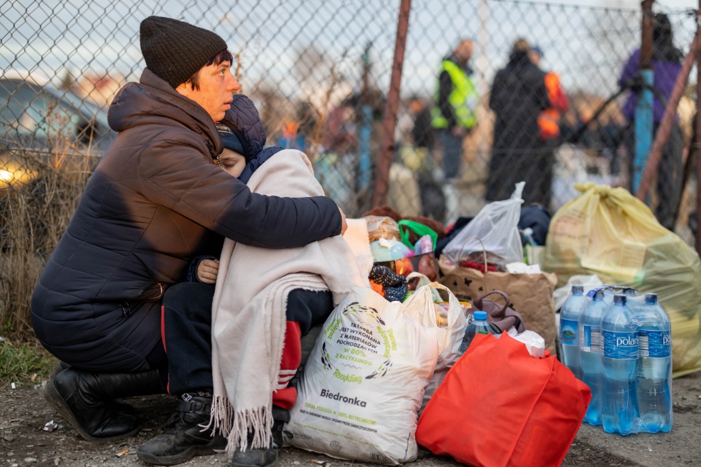
[[(25, 466), (144, 466), (136, 448), (154, 435), (168, 419), (174, 403), (169, 396), (133, 398), (142, 419), (142, 431), (121, 442), (95, 443), (83, 440), (43, 400), (41, 384), (5, 387), (0, 390), (0, 467)], [(592, 466), (701, 466), (701, 372), (674, 380), (674, 425), (670, 433), (620, 436), (605, 433), (600, 426), (584, 424), (562, 463), (567, 467)], [(55, 431), (44, 424), (55, 421)], [(495, 435), (498, 439), (498, 435)], [(486, 440), (489, 442), (489, 440)], [(365, 463), (341, 461), (322, 454), (288, 447), (280, 453), (280, 466), (358, 467)], [(185, 467), (228, 466), (226, 454), (199, 456)], [(458, 466), (451, 459), (419, 450), (421, 467)]]

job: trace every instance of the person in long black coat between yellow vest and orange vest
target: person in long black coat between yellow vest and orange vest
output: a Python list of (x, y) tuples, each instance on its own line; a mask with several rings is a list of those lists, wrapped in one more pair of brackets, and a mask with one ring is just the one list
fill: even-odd
[(525, 181), (523, 199), (550, 206), (552, 149), (540, 139), (538, 116), (550, 107), (545, 73), (531, 62), (525, 39), (512, 46), (509, 62), (494, 76), (489, 107), (494, 111), (494, 143), (486, 200), (505, 200)]

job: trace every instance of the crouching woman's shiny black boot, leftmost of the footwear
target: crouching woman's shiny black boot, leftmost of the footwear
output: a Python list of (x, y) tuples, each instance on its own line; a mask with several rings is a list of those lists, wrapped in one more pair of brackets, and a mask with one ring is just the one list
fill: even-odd
[(43, 396), (86, 440), (114, 441), (138, 433), (139, 422), (112, 401), (162, 392), (158, 370), (95, 373), (71, 367), (49, 380)]

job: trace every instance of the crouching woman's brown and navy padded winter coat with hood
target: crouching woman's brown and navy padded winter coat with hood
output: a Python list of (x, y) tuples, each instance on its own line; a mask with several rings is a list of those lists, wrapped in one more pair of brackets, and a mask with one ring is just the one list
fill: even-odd
[(253, 194), (214, 165), (222, 141), (210, 116), (149, 69), (120, 90), (109, 123), (116, 140), (32, 296), (36, 336), (67, 363), (149, 368), (163, 290), (184, 281), (212, 232), (270, 248), (341, 232), (329, 198)]

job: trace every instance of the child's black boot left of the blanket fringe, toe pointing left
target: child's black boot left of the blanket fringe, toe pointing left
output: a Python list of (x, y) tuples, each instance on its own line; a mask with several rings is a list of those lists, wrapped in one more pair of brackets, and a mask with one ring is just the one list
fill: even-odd
[(192, 396), (177, 402), (178, 417), (175, 424), (163, 435), (158, 435), (137, 447), (136, 454), (145, 463), (174, 466), (189, 461), (193, 456), (214, 454), (226, 449), (226, 438), (212, 436), (200, 425), (210, 422), (212, 398)]

